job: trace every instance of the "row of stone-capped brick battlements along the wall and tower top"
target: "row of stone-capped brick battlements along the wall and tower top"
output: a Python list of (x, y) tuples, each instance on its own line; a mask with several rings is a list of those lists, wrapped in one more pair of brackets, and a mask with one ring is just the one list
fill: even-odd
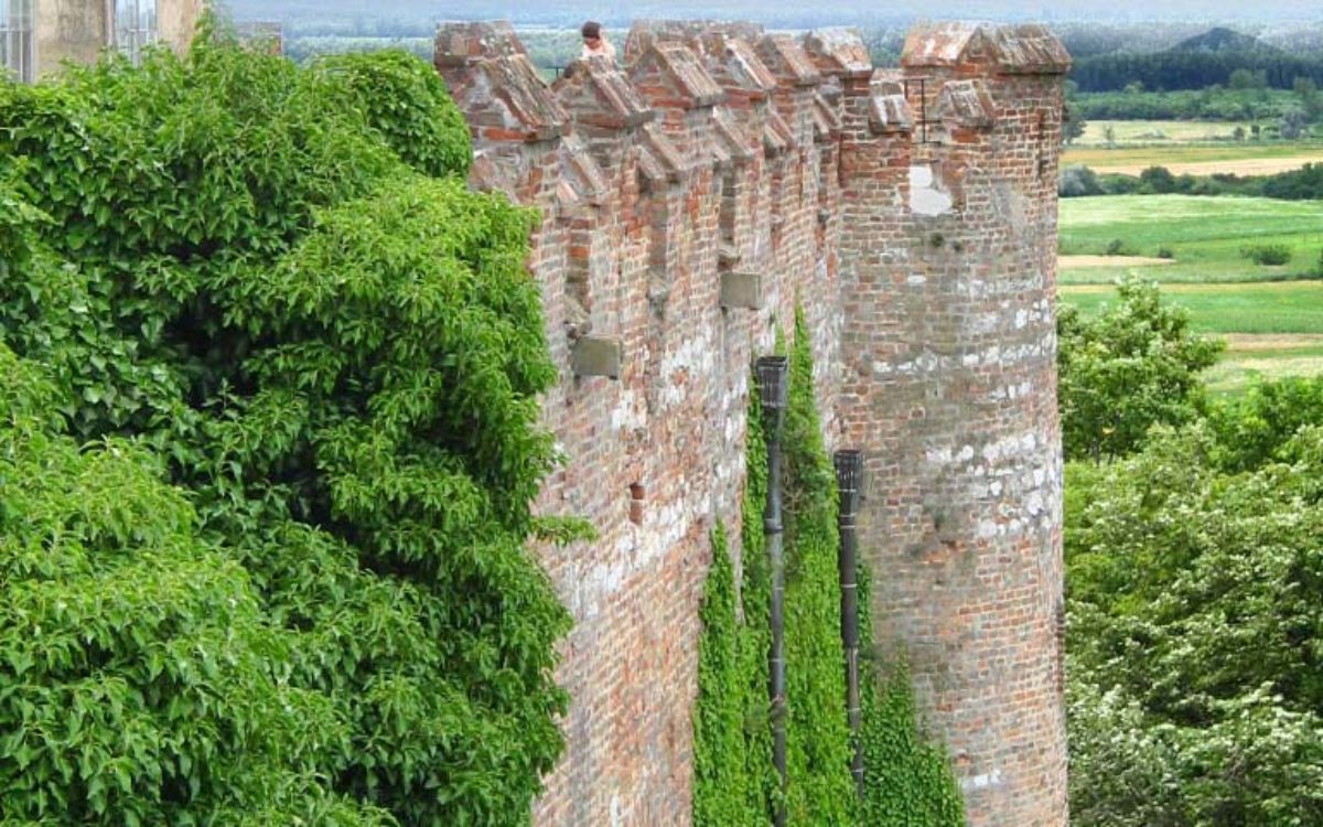
[[(548, 83), (509, 22), (443, 22), (435, 66), (472, 132), (471, 184), (574, 212), (598, 202), (610, 180), (594, 157), (593, 139), (605, 134), (639, 134), (638, 175), (651, 185), (681, 184), (708, 164), (771, 159), (843, 132), (890, 140), (904, 153), (901, 144), (918, 142), (919, 118), (923, 157), (939, 159), (953, 130), (995, 127), (988, 82), (1060, 75), (1070, 57), (1041, 25), (921, 22), (905, 41), (901, 67), (875, 70), (853, 29), (792, 36), (753, 22), (643, 20), (618, 64), (576, 61)], [(918, 78), (923, 97), (908, 83)], [(800, 122), (795, 107), (806, 102), (811, 109)], [(689, 146), (677, 118), (709, 110), (706, 146)], [(562, 156), (564, 181), (532, 181), (521, 165), (520, 146), (546, 142)]]

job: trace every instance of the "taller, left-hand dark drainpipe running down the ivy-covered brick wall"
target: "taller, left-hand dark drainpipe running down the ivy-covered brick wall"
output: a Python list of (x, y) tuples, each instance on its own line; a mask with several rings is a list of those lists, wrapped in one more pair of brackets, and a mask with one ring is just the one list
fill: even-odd
[(767, 427), (767, 507), (762, 513), (767, 558), (771, 561), (771, 762), (781, 779), (781, 797), (773, 823), (786, 827), (786, 557), (781, 524), (781, 427), (789, 401), (790, 360), (763, 356), (758, 360), (758, 390)]

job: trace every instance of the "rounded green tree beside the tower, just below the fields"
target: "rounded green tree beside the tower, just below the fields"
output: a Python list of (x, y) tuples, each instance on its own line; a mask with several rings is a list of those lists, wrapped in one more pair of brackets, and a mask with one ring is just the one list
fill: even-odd
[(1156, 284), (1123, 281), (1117, 294), (1095, 316), (1070, 306), (1057, 316), (1061, 439), (1072, 459), (1129, 454), (1154, 425), (1192, 419), (1199, 374), (1222, 348), (1193, 336), (1188, 314), (1163, 304)]

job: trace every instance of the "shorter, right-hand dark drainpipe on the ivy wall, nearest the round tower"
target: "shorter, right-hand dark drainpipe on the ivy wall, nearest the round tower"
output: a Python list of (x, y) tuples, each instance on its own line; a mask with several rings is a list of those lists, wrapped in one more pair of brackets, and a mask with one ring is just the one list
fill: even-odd
[(845, 707), (849, 718), (849, 737), (855, 742), (855, 757), (849, 771), (855, 789), (864, 794), (864, 741), (860, 729), (864, 720), (859, 701), (859, 560), (855, 517), (859, 508), (859, 482), (864, 468), (863, 451), (836, 451), (836, 487), (840, 491), (840, 640), (845, 647)]

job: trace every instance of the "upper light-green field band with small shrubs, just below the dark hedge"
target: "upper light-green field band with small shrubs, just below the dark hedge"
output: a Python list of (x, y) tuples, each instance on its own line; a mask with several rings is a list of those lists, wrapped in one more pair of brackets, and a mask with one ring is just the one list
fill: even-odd
[[(1129, 254), (1172, 254), (1170, 263), (1136, 263), (1125, 255), (1114, 265), (1073, 267), (1062, 284), (1110, 284), (1135, 274), (1163, 283), (1261, 282), (1318, 274), (1323, 255), (1323, 204), (1213, 196), (1099, 196), (1061, 201), (1062, 255), (1101, 255), (1121, 241)], [(1261, 266), (1241, 257), (1246, 245), (1281, 243), (1291, 249), (1286, 265)]]

